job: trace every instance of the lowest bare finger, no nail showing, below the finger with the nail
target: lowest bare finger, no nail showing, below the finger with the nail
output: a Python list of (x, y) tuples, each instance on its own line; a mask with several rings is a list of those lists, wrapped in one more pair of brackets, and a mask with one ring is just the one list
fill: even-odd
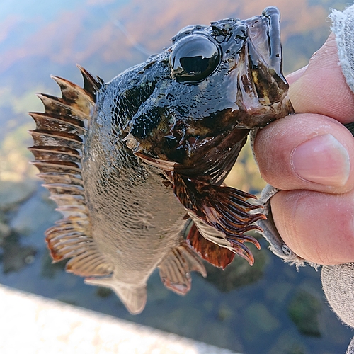
[(319, 264), (354, 261), (354, 191), (280, 191), (270, 200), (275, 226), (298, 256)]

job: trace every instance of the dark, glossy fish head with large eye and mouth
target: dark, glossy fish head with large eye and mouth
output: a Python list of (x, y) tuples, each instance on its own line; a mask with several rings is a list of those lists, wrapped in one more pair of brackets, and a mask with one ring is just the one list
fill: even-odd
[(160, 75), (152, 96), (130, 120), (125, 141), (138, 156), (180, 172), (211, 150), (234, 158), (250, 129), (293, 113), (278, 8), (188, 26), (172, 42), (150, 68)]

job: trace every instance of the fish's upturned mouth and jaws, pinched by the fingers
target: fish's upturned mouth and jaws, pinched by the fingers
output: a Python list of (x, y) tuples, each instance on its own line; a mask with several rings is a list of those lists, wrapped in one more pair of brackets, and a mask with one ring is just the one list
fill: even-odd
[[(261, 16), (244, 20), (246, 45), (239, 67), (237, 105), (247, 112), (236, 126), (252, 129), (294, 113), (287, 96), (289, 85), (282, 74), (280, 11), (274, 6)], [(244, 79), (246, 78), (246, 79)], [(251, 90), (247, 86), (251, 83)]]

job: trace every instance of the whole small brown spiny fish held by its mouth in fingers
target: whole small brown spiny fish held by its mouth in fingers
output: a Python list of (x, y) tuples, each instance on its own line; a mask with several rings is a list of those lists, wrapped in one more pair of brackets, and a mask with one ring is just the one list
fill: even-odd
[(252, 265), (246, 232), (265, 219), (254, 195), (224, 184), (253, 128), (294, 111), (282, 74), (280, 12), (190, 25), (170, 47), (106, 83), (52, 76), (38, 94), (30, 151), (62, 219), (45, 232), (53, 262), (108, 287), (131, 314), (147, 280), (185, 295), (202, 260)]

